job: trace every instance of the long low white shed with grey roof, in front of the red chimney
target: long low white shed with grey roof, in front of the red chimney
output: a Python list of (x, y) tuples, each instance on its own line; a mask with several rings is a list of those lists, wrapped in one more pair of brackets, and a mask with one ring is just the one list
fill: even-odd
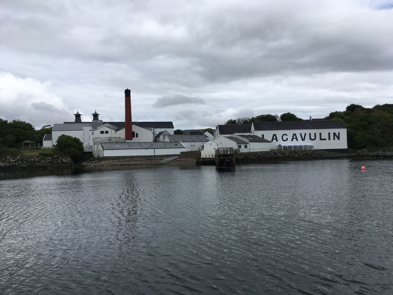
[(95, 145), (93, 156), (180, 155), (185, 150), (180, 142), (101, 142)]

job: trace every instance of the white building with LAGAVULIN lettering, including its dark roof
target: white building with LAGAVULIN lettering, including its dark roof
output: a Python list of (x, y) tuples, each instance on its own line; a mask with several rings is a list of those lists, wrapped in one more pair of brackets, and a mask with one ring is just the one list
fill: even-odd
[(274, 148), (347, 152), (347, 129), (340, 120), (253, 122), (251, 133)]

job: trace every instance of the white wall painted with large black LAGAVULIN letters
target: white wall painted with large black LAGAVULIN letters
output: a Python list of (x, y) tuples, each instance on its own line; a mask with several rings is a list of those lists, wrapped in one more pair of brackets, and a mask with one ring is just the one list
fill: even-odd
[(255, 131), (254, 135), (272, 141), (272, 146), (278, 144), (307, 144), (312, 143), (314, 149), (347, 149), (347, 130), (342, 129), (303, 129), (303, 130), (269, 130)]

